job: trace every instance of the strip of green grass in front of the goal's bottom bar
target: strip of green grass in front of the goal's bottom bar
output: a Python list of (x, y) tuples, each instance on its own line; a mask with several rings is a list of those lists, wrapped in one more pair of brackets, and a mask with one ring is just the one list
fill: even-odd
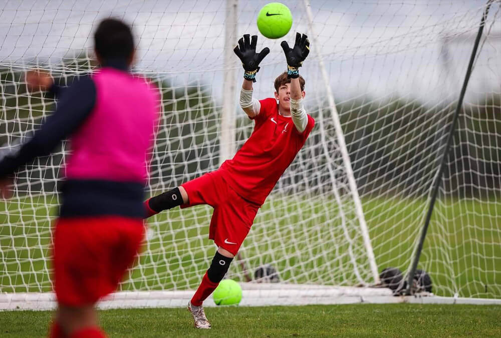
[[(110, 337), (501, 336), (493, 305), (356, 304), (206, 309), (211, 330), (192, 327), (184, 308), (100, 311)], [(0, 337), (44, 336), (49, 311), (0, 313)]]

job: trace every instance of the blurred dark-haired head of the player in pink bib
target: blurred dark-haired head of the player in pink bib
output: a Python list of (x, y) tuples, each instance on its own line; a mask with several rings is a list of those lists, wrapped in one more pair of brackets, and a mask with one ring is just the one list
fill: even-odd
[(117, 19), (101, 21), (94, 33), (94, 48), (103, 60), (130, 58), (134, 53), (130, 27)]

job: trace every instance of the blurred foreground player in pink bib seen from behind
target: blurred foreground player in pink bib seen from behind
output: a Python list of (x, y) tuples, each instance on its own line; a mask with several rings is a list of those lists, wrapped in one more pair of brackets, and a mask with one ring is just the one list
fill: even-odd
[(96, 302), (113, 292), (144, 237), (145, 159), (158, 119), (158, 92), (133, 77), (134, 39), (123, 22), (106, 19), (94, 35), (102, 68), (64, 91), (49, 74), (29, 72), (29, 86), (58, 95), (56, 111), (33, 137), (0, 155), (6, 177), (69, 137), (63, 203), (53, 232), (58, 308), (50, 337), (105, 337)]

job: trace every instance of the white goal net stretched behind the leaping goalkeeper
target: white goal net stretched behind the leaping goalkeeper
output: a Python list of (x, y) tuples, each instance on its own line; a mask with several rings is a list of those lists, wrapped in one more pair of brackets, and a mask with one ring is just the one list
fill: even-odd
[[(278, 40), (256, 26), (266, 1), (98, 3), (8, 0), (0, 10), (2, 149), (22, 142), (56, 104), (28, 93), (23, 72), (41, 68), (63, 85), (92, 73), (97, 23), (123, 18), (138, 43), (133, 72), (161, 91), (147, 186), (158, 194), (217, 169), (253, 131), (238, 107), (243, 71), (228, 46), (248, 33), (259, 36), (258, 49), (271, 49), (254, 85), (263, 99), (286, 70), (280, 42), (306, 33), (312, 52), (301, 74), (316, 126), (226, 278), (267, 281), (255, 275), (266, 264), (280, 283), (310, 289), (370, 286), (387, 267), (405, 274), (485, 1), (290, 1), (294, 24)], [(418, 264), (436, 295), (501, 298), (500, 11), (492, 2)], [(69, 149), (64, 142), (21, 168), (14, 197), (0, 202), (3, 293), (52, 289), (51, 224)], [(139, 263), (119, 291), (196, 288), (215, 252), (211, 213), (197, 206), (150, 218)]]

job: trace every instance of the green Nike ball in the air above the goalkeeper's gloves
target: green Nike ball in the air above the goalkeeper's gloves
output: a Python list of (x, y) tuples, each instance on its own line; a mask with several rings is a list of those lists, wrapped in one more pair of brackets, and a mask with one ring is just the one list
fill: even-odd
[(258, 15), (258, 29), (268, 39), (282, 38), (292, 27), (292, 14), (281, 3), (270, 3)]

